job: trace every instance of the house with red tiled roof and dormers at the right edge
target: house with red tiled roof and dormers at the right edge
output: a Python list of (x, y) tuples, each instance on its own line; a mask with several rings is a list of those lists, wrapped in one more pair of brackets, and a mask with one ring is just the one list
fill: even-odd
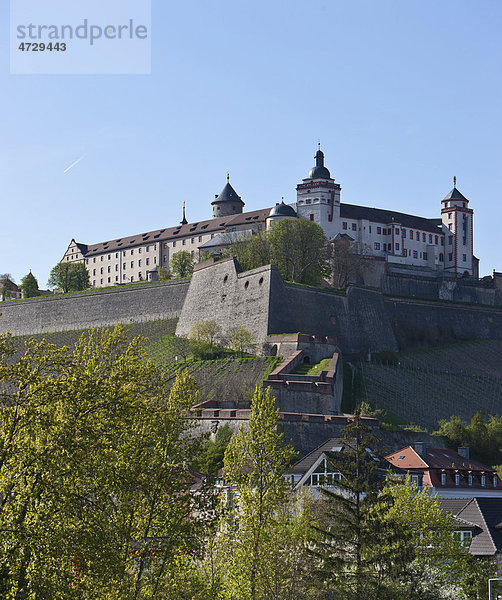
[[(502, 498), (497, 472), (470, 458), (468, 447), (458, 452), (428, 448), (424, 442), (406, 446), (385, 457), (402, 475), (442, 498)], [(501, 519), (502, 520), (502, 519)]]

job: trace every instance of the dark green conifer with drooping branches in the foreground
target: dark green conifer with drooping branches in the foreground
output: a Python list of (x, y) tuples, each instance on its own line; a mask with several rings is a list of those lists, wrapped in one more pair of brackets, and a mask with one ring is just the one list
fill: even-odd
[(341, 445), (344, 451), (332, 453), (330, 461), (340, 479), (336, 487), (323, 488), (324, 522), (313, 528), (313, 572), (339, 599), (391, 598), (410, 559), (410, 540), (385, 519), (392, 497), (373, 453), (379, 443), (358, 411), (343, 430)]

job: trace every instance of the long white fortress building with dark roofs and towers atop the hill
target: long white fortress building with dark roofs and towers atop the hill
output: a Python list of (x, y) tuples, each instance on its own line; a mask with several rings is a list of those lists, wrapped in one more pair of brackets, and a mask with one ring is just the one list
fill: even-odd
[(441, 218), (429, 219), (380, 208), (344, 204), (341, 186), (324, 166), (317, 150), (315, 166), (297, 188), (297, 201), (243, 212), (244, 202), (227, 183), (212, 201), (213, 218), (176, 227), (100, 242), (70, 242), (62, 262), (85, 262), (93, 287), (108, 287), (156, 279), (159, 267), (169, 268), (176, 252), (187, 250), (194, 260), (228, 246), (232, 239), (253, 235), (281, 219), (303, 218), (320, 225), (328, 240), (343, 236), (354, 251), (389, 264), (478, 277), (473, 256), (473, 211), (454, 187), (441, 201)]

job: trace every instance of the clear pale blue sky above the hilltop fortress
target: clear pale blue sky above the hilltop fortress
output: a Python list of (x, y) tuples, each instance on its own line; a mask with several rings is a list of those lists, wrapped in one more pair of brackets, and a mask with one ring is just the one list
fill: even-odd
[[(0, 4), (0, 273), (45, 287), (72, 238), (210, 218), (230, 181), (272, 206), (321, 140), (342, 202), (474, 209), (502, 270), (500, 0), (153, 0), (151, 75), (9, 73)], [(65, 169), (85, 155), (70, 171)]]

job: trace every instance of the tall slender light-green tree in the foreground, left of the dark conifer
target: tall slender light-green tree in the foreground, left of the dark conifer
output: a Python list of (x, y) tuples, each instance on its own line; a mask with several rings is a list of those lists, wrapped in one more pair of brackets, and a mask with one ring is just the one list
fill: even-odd
[[(236, 493), (224, 537), (224, 589), (228, 598), (258, 600), (277, 585), (286, 548), (277, 516), (290, 497), (284, 474), (294, 455), (278, 431), (278, 411), (270, 389), (256, 387), (249, 425), (227, 447), (224, 477)], [(275, 597), (280, 597), (276, 595)]]

